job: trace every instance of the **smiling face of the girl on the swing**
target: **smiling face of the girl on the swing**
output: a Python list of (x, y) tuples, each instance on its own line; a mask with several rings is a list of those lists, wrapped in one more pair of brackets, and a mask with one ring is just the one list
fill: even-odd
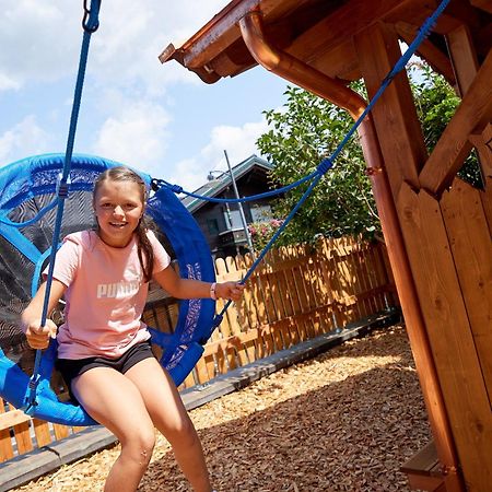
[(137, 183), (104, 180), (94, 196), (99, 237), (109, 246), (124, 248), (130, 243), (143, 210)]

